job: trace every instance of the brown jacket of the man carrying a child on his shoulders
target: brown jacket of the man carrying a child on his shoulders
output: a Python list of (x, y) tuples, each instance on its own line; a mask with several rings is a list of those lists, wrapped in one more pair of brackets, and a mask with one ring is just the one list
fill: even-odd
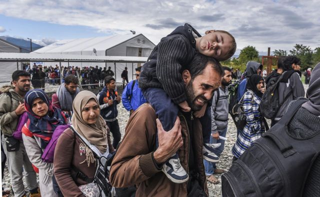
[[(188, 172), (189, 132), (187, 123), (180, 116), (183, 146), (178, 150), (181, 165)], [(136, 185), (137, 197), (186, 197), (187, 183), (171, 182), (156, 167), (152, 154), (156, 149), (156, 115), (149, 104), (143, 104), (129, 118), (125, 135), (112, 161), (110, 182), (116, 188)], [(198, 119), (192, 124), (194, 132), (194, 162), (199, 172), (198, 182), (208, 195), (203, 158), (202, 158), (202, 129)]]

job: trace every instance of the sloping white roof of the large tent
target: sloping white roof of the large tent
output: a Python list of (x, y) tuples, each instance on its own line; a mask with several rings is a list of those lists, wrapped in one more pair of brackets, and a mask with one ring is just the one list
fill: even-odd
[(62, 52), (72, 52), (72, 51), (92, 51), (93, 48), (95, 48), (97, 51), (101, 51), (101, 50), (104, 51), (139, 35), (144, 36), (143, 34), (130, 33), (130, 34), (124, 34), (124, 35), (59, 40), (55, 43), (44, 46), (33, 52), (62, 53)]

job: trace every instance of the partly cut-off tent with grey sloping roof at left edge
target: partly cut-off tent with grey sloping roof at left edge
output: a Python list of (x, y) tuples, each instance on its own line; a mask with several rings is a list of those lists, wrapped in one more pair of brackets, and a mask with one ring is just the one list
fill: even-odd
[[(0, 39), (0, 53), (20, 53), (21, 48), (6, 41)], [(17, 68), (21, 69), (20, 62), (0, 62), (0, 82), (8, 82), (12, 80), (12, 73), (17, 70)]]

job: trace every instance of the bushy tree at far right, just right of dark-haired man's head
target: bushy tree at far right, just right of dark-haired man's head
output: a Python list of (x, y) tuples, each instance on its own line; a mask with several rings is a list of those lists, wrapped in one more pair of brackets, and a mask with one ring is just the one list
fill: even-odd
[(304, 70), (312, 65), (312, 50), (309, 46), (302, 44), (295, 44), (294, 48), (290, 50), (291, 55), (295, 55), (301, 59), (301, 69)]

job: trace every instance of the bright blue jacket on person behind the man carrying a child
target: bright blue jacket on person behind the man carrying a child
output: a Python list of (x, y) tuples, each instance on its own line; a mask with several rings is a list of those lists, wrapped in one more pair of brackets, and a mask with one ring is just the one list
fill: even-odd
[[(135, 81), (133, 89), (132, 83)], [(138, 81), (130, 81), (124, 88), (122, 93), (122, 104), (123, 107), (130, 111), (131, 109), (135, 111), (140, 105), (146, 103), (145, 98), (142, 95), (142, 91), (138, 86)]]

